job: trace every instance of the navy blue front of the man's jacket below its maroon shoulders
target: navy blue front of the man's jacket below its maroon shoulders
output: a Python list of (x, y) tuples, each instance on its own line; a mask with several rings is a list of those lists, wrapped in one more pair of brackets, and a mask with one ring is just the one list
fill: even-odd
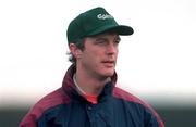
[(160, 127), (143, 104), (112, 96), (99, 104), (71, 102), (47, 110), (38, 127)]

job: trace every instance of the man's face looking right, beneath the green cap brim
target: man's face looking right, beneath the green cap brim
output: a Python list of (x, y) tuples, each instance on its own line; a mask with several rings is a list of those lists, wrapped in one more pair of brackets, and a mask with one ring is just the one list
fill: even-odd
[(110, 77), (114, 73), (118, 56), (118, 34), (102, 34), (84, 39), (85, 49), (77, 63), (83, 71), (97, 78)]

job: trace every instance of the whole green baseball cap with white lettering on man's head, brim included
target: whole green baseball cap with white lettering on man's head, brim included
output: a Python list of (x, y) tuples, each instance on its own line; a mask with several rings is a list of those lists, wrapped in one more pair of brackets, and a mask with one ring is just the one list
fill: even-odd
[(98, 7), (76, 16), (68, 27), (66, 37), (69, 43), (71, 43), (84, 37), (95, 36), (110, 30), (122, 36), (134, 33), (131, 26), (119, 25), (112, 15), (103, 8)]

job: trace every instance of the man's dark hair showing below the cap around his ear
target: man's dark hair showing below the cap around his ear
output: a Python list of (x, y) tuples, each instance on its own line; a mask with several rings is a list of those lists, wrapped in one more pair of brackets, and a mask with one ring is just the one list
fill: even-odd
[[(85, 46), (84, 46), (84, 39), (78, 39), (76, 40), (76, 42), (74, 42), (74, 45), (79, 49), (79, 50), (84, 50), (85, 49)], [(69, 61), (73, 64), (76, 64), (76, 59), (75, 56), (72, 54), (72, 52), (69, 52), (68, 53), (69, 56)]]

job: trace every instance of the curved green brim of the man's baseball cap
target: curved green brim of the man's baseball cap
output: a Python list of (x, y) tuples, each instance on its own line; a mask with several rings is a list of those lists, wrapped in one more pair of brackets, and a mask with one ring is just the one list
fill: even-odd
[(111, 26), (107, 26), (107, 27), (106, 26), (99, 27), (96, 30), (90, 31), (88, 34), (88, 36), (99, 35), (99, 34), (107, 33), (107, 31), (113, 31), (113, 33), (117, 33), (122, 36), (128, 36), (134, 33), (133, 28), (130, 26), (125, 26), (125, 25), (113, 26), (113, 25), (111, 25)]

